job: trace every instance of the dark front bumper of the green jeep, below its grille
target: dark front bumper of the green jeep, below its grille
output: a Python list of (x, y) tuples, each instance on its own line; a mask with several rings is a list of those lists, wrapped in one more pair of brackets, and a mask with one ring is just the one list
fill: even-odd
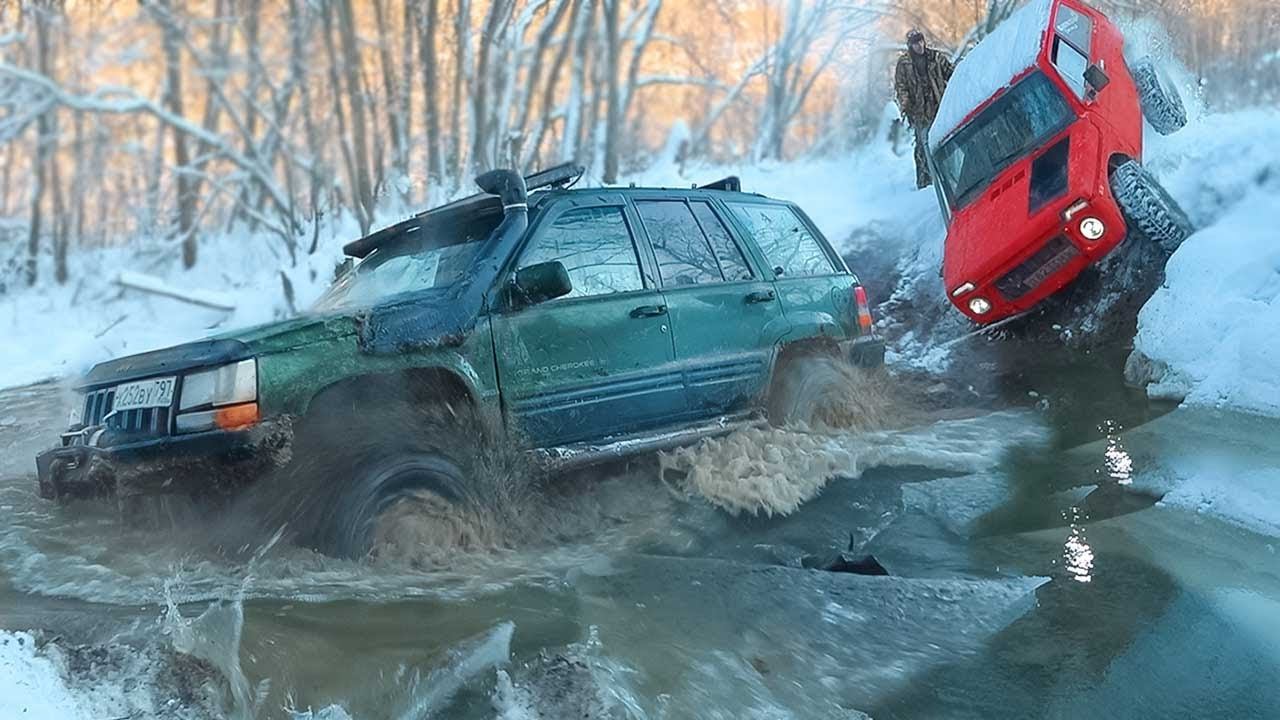
[(108, 447), (72, 443), (36, 456), (38, 492), (50, 500), (228, 492), (288, 462), (292, 445), (288, 419), (265, 420), (243, 430), (152, 437)]

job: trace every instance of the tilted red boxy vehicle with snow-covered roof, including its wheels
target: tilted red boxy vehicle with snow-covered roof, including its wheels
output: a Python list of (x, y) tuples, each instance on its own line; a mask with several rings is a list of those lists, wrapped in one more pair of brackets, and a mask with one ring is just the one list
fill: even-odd
[(1142, 120), (1187, 123), (1149, 60), (1080, 0), (1032, 0), (957, 65), (929, 131), (951, 302), (987, 324), (1025, 311), (1128, 236), (1171, 252), (1192, 232), (1142, 167)]

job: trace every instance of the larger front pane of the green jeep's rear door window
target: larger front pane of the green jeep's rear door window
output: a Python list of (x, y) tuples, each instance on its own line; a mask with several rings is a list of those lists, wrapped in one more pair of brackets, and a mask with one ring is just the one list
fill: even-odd
[(636, 211), (649, 233), (663, 284), (672, 287), (723, 279), (712, 246), (684, 200), (640, 200), (636, 201)]

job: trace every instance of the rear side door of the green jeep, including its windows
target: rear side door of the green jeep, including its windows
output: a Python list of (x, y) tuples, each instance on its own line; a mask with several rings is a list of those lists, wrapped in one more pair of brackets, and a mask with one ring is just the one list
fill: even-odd
[(772, 283), (751, 266), (709, 200), (632, 199), (667, 297), (687, 416), (753, 406), (782, 318)]

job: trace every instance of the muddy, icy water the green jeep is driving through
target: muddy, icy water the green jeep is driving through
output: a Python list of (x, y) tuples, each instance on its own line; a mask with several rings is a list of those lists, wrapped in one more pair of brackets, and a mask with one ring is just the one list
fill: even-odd
[[(445, 566), (40, 501), (61, 395), (5, 391), (0, 717), (1274, 716), (1275, 541), (1128, 489), (1152, 413), (1105, 382), (566, 478)], [(801, 568), (846, 548), (891, 575)]]

